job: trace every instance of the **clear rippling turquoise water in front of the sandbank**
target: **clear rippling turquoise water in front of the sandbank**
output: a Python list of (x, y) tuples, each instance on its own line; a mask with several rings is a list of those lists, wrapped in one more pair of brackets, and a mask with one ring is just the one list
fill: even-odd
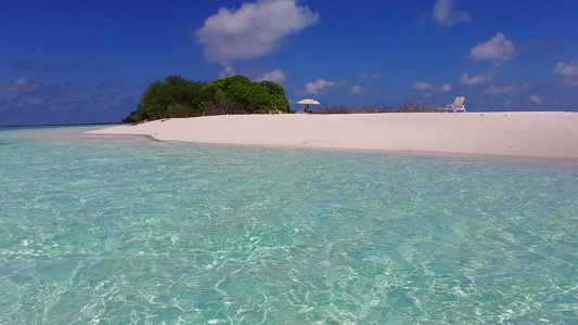
[(575, 324), (578, 168), (0, 131), (0, 324)]

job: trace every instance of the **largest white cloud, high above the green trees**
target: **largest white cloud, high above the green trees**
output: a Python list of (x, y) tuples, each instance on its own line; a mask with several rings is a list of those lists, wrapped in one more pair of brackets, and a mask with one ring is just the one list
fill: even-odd
[(258, 0), (236, 11), (220, 8), (194, 38), (205, 46), (205, 60), (228, 64), (268, 54), (281, 47), (285, 36), (318, 22), (319, 14), (298, 6), (296, 0)]

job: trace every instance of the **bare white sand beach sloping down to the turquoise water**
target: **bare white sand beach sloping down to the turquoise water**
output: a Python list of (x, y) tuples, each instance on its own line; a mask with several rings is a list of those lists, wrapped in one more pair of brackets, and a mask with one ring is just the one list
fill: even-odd
[(578, 159), (578, 113), (221, 115), (88, 131), (160, 141)]

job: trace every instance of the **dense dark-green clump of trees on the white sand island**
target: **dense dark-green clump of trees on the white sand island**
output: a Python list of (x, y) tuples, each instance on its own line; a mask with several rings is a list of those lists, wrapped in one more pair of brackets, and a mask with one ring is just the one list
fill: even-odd
[(243, 76), (210, 82), (168, 76), (149, 86), (137, 110), (123, 122), (219, 114), (288, 113), (285, 89), (273, 81), (252, 82)]

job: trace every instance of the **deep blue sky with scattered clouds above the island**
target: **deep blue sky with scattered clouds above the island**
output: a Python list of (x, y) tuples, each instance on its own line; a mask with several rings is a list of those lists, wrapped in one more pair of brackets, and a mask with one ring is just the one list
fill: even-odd
[(578, 110), (576, 0), (0, 1), (0, 125), (119, 121), (150, 82), (241, 74), (290, 103)]

